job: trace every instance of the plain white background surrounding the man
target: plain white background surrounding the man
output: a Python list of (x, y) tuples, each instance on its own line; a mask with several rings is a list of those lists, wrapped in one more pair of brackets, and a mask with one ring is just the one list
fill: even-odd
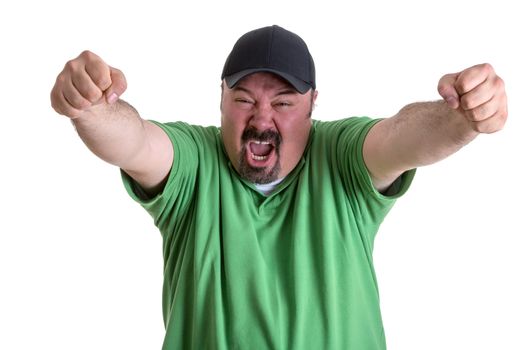
[[(511, 4), (514, 3), (514, 4)], [(490, 62), (510, 117), (419, 169), (376, 240), (390, 350), (525, 349), (523, 10), (517, 1), (16, 1), (0, 5), (0, 349), (160, 349), (161, 238), (49, 92), (90, 49), (144, 118), (219, 123), (235, 40), (279, 24), (308, 43), (314, 117), (388, 117)], [(9, 4), (9, 5), (7, 5)], [(146, 5), (147, 4), (147, 5)]]

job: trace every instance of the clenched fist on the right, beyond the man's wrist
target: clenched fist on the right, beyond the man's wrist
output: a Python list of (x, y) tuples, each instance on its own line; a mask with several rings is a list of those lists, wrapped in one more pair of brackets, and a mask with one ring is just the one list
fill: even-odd
[(491, 65), (479, 64), (462, 72), (443, 76), (439, 94), (447, 104), (461, 112), (474, 131), (501, 130), (507, 120), (507, 94), (503, 80)]

